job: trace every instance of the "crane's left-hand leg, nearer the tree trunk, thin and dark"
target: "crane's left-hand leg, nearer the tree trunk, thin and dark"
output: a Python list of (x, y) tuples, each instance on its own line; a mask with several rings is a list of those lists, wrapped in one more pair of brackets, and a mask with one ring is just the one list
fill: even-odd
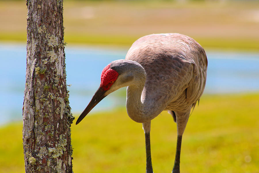
[(146, 173), (153, 173), (152, 162), (151, 162), (151, 148), (150, 148), (151, 121), (142, 123), (142, 127), (145, 132), (145, 140), (146, 140)]

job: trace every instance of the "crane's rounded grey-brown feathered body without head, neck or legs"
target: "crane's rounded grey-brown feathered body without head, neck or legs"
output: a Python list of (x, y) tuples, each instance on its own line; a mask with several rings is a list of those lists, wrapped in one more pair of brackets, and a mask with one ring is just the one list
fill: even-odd
[(159, 112), (189, 112), (205, 88), (207, 57), (204, 49), (188, 36), (146, 35), (132, 44), (125, 59), (144, 67), (147, 77), (141, 101), (159, 106)]

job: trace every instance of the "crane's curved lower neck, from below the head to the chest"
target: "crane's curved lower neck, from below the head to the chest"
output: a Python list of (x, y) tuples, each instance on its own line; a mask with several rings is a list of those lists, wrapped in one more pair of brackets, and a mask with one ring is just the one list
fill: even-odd
[(140, 80), (135, 85), (127, 86), (127, 114), (132, 120), (138, 123), (150, 121), (162, 111), (156, 109), (155, 104), (146, 99), (145, 90), (143, 90), (145, 81)]

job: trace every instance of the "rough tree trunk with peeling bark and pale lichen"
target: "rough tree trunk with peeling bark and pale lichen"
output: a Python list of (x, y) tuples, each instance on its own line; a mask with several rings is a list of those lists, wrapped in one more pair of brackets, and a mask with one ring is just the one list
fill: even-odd
[(62, 0), (27, 0), (27, 68), (23, 104), (26, 172), (72, 172)]

